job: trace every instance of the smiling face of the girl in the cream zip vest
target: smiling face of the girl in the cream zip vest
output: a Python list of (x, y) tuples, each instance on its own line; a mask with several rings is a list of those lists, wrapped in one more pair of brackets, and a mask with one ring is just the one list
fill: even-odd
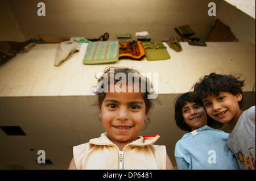
[(147, 119), (146, 104), (141, 92), (106, 93), (100, 117), (114, 144), (127, 144), (136, 140)]

